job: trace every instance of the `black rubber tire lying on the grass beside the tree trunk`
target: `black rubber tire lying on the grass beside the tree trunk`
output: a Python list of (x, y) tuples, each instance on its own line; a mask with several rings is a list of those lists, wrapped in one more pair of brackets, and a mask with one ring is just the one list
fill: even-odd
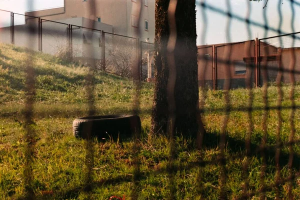
[(100, 115), (79, 117), (73, 121), (73, 135), (77, 138), (87, 139), (97, 137), (98, 140), (119, 138), (123, 140), (140, 133), (141, 123), (137, 115)]

